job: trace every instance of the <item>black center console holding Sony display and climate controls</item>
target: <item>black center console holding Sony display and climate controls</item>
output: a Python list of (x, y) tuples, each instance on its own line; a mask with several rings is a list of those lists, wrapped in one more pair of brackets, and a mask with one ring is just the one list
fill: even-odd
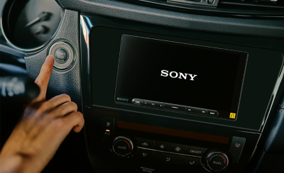
[(109, 172), (242, 172), (278, 89), (282, 53), (95, 26), (86, 16), (81, 24), (91, 160), (103, 158)]

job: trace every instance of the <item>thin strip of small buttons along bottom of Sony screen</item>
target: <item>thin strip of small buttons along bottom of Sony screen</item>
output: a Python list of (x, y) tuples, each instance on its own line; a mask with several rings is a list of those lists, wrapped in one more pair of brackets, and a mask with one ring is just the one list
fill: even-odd
[(136, 104), (138, 106), (146, 106), (149, 108), (158, 108), (168, 111), (177, 111), (183, 113), (192, 113), (192, 114), (199, 114), (204, 116), (218, 116), (218, 111), (209, 110), (206, 108), (195, 108), (190, 106), (182, 106), (178, 104), (167, 104), (158, 101), (149, 101), (143, 99), (132, 99), (132, 104)]

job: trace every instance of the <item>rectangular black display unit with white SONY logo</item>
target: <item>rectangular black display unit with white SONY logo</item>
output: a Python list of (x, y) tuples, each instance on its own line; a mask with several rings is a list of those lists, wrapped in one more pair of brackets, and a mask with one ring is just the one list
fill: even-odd
[(123, 35), (114, 101), (236, 120), (248, 54)]

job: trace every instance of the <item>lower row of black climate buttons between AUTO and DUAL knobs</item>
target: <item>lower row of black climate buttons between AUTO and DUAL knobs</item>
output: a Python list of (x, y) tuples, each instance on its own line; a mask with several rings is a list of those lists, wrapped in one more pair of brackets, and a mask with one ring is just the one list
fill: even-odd
[(184, 164), (184, 165), (201, 165), (200, 157), (187, 157), (183, 155), (169, 154), (166, 152), (158, 152), (153, 150), (138, 148), (136, 158), (141, 161), (156, 161), (167, 164)]

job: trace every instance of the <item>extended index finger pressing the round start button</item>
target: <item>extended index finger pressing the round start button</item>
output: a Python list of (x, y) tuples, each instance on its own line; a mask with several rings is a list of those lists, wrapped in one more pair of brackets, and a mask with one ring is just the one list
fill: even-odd
[(40, 69), (40, 74), (38, 74), (38, 77), (35, 79), (35, 84), (38, 84), (40, 87), (40, 94), (33, 100), (33, 102), (45, 101), (46, 90), (48, 89), (48, 81), (50, 79), (51, 72), (53, 72), (53, 63), (54, 57), (52, 55), (48, 55)]

